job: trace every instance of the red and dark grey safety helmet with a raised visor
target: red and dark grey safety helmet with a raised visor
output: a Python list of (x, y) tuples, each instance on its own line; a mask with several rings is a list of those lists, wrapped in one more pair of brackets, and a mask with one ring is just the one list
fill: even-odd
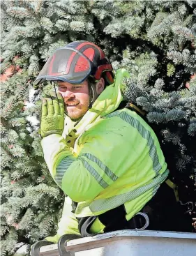
[(103, 73), (107, 84), (112, 84), (112, 70), (112, 64), (100, 47), (84, 40), (74, 41), (55, 50), (34, 84), (54, 80), (80, 84), (88, 77), (100, 80)]

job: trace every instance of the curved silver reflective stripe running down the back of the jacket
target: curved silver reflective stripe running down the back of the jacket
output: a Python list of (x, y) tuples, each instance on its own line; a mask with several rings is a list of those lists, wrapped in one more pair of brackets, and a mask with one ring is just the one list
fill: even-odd
[(139, 120), (135, 119), (133, 116), (130, 116), (122, 110), (118, 110), (112, 112), (111, 114), (107, 114), (103, 118), (107, 119), (113, 116), (118, 116), (123, 121), (126, 121), (126, 123), (129, 123), (130, 126), (136, 128), (140, 135), (142, 135), (142, 137), (147, 140), (147, 145), (149, 146), (149, 156), (153, 162), (153, 170), (156, 172), (156, 174), (158, 174), (158, 172), (160, 172), (160, 170), (162, 169), (162, 166), (159, 163), (157, 149), (156, 146), (154, 145), (154, 140), (151, 137), (150, 131), (146, 130), (146, 128), (144, 128), (144, 126), (142, 125), (142, 123), (140, 123)]

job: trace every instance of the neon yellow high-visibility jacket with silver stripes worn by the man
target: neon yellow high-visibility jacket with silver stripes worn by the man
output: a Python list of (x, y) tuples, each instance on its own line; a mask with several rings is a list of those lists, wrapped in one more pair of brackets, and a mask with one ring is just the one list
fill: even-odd
[[(118, 70), (114, 84), (79, 123), (66, 116), (63, 135), (42, 140), (50, 174), (68, 196), (59, 230), (47, 240), (79, 234), (76, 217), (98, 216), (122, 204), (130, 220), (167, 178), (167, 164), (151, 127), (134, 111), (116, 110), (123, 100), (123, 77), (129, 77), (128, 72)], [(75, 213), (71, 200), (78, 203)], [(91, 232), (103, 232), (104, 227), (96, 220)]]

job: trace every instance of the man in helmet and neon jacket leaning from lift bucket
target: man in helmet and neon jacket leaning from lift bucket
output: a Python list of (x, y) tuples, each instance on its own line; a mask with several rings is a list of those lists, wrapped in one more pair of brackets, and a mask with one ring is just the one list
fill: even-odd
[(121, 86), (129, 76), (117, 70), (113, 79), (103, 51), (75, 41), (56, 50), (36, 79), (58, 89), (43, 98), (41, 144), (50, 174), (67, 195), (58, 232), (48, 241), (148, 226), (167, 230), (168, 209), (163, 207), (164, 217), (152, 213), (160, 198), (168, 200), (161, 192), (167, 185), (160, 184), (169, 171), (137, 107), (121, 107)]

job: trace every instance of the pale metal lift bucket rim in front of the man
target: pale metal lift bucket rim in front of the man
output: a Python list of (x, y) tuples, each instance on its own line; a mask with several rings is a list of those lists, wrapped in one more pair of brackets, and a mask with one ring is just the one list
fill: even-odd
[[(64, 235), (58, 244), (39, 241), (32, 256), (195, 256), (196, 234), (119, 230), (85, 238)], [(74, 240), (73, 240), (74, 239)]]

